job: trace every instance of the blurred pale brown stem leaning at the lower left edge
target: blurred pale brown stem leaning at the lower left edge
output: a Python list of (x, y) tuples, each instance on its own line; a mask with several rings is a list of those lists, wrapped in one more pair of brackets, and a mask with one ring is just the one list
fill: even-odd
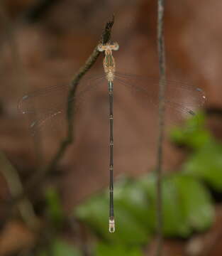
[[(11, 196), (16, 197), (23, 193), (23, 185), (18, 176), (16, 169), (11, 165), (9, 160), (6, 158), (3, 152), (0, 151), (0, 165), (1, 165), (1, 174), (3, 174), (6, 183), (8, 184), (9, 191)], [(35, 215), (33, 206), (28, 201), (27, 198), (23, 198), (20, 203), (18, 203), (18, 210), (23, 218), (24, 222), (28, 227), (35, 229), (38, 227), (38, 218)]]

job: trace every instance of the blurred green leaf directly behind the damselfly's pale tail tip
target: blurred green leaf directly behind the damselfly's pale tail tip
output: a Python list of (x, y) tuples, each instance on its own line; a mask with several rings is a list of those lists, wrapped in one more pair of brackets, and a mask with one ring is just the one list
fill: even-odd
[[(115, 201), (114, 194), (114, 201)], [(91, 226), (95, 233), (114, 243), (143, 244), (148, 240), (148, 228), (142, 225), (124, 205), (115, 203), (115, 233), (109, 233), (109, 197), (98, 195), (78, 206), (74, 214)]]

